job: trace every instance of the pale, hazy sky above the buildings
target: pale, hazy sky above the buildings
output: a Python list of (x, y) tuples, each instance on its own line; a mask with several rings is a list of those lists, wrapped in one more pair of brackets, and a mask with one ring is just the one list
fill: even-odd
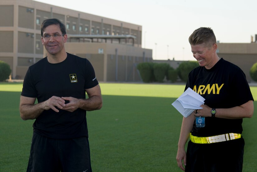
[(194, 60), (188, 37), (211, 27), (221, 43), (250, 43), (257, 34), (256, 0), (36, 0), (142, 26), (142, 48), (154, 60)]

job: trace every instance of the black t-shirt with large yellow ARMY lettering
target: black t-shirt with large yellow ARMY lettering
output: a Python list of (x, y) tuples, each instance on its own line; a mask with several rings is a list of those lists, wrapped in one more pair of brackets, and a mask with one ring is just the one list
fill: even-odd
[[(245, 74), (236, 65), (220, 59), (211, 69), (197, 67), (189, 73), (185, 90), (190, 87), (211, 108), (232, 108), (254, 100)], [(211, 112), (210, 112), (211, 113)], [(242, 119), (205, 117), (205, 127), (193, 125), (192, 135), (207, 137), (226, 133), (242, 133)]]

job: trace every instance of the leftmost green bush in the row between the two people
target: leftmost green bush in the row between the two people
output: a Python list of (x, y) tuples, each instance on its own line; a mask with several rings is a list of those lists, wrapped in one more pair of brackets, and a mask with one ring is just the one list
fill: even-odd
[(155, 80), (153, 65), (150, 62), (137, 64), (136, 67), (139, 70), (143, 82), (153, 82)]

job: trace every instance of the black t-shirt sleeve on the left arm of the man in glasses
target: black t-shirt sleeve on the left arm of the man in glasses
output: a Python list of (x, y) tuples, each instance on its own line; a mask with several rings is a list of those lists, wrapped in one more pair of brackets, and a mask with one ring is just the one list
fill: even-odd
[(37, 97), (37, 91), (32, 79), (30, 68), (28, 68), (27, 73), (24, 77), (21, 95), (25, 97), (32, 97), (32, 98)]

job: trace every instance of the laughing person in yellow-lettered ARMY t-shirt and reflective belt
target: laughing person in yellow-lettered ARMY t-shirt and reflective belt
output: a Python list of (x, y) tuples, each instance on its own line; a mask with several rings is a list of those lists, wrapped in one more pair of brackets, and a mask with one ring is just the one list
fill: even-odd
[[(190, 87), (205, 102), (202, 109), (183, 118), (176, 157), (178, 167), (190, 172), (241, 172), (245, 145), (241, 136), (242, 118), (250, 118), (254, 112), (254, 99), (245, 74), (218, 57), (211, 28), (196, 29), (189, 43), (199, 67), (189, 73), (185, 90)], [(196, 126), (196, 117), (200, 116), (205, 118), (204, 127)]]

